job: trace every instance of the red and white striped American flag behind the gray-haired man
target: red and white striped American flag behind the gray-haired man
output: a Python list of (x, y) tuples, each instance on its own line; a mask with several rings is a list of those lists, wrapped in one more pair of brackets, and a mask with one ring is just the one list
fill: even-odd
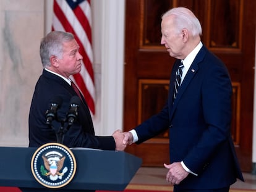
[(95, 84), (92, 52), (92, 15), (90, 0), (54, 0), (52, 30), (73, 33), (83, 56), (80, 73), (72, 75), (90, 112), (95, 114)]

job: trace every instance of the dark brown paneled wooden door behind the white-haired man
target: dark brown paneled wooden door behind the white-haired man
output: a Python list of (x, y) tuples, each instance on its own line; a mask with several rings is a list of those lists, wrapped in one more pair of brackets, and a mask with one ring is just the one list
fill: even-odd
[[(255, 0), (126, 1), (124, 130), (128, 131), (163, 107), (174, 59), (161, 46), (161, 15), (171, 7), (194, 11), (202, 23), (202, 41), (227, 65), (233, 82), (232, 135), (242, 170), (252, 169)], [(127, 152), (144, 166), (169, 162), (168, 131)]]

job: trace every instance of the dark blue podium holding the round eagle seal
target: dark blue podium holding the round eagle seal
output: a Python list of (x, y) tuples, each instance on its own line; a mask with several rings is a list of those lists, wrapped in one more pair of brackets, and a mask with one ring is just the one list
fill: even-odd
[[(0, 147), (0, 186), (46, 188), (33, 177), (32, 156), (37, 148)], [(63, 189), (123, 191), (142, 159), (123, 151), (71, 149), (77, 163), (74, 178)]]

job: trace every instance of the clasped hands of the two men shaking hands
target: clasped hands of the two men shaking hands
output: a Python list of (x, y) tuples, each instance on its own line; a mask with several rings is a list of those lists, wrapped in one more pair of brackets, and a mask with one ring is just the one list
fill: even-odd
[(124, 151), (127, 144), (132, 144), (134, 141), (134, 136), (132, 136), (132, 133), (130, 132), (122, 132), (121, 130), (116, 130), (112, 136), (116, 142), (117, 151)]

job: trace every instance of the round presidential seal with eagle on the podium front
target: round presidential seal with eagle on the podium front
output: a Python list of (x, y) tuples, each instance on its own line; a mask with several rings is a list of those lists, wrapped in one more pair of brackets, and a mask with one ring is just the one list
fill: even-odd
[(33, 154), (31, 170), (36, 181), (47, 188), (61, 188), (71, 182), (77, 168), (69, 148), (46, 143)]

